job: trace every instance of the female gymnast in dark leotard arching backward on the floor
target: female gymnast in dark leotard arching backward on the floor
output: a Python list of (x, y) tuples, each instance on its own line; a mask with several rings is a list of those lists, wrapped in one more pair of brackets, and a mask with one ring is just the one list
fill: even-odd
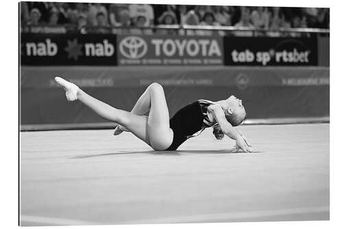
[[(56, 82), (66, 91), (67, 100), (80, 100), (102, 118), (117, 122), (115, 135), (130, 131), (156, 151), (175, 151), (188, 138), (199, 135), (205, 128), (213, 127), (213, 134), (222, 139), (224, 134), (236, 140), (235, 152), (241, 149), (252, 152), (243, 133), (233, 128), (246, 118), (241, 100), (230, 96), (226, 100), (212, 102), (196, 100), (180, 109), (170, 120), (163, 87), (152, 83), (137, 100), (131, 112), (111, 107), (86, 94), (82, 89), (63, 78)], [(149, 111), (148, 116), (144, 116)]]

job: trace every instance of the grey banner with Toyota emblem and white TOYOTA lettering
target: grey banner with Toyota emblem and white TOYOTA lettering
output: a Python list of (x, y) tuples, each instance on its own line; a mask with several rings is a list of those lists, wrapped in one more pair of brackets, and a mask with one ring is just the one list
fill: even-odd
[(223, 65), (222, 37), (117, 36), (118, 65)]

